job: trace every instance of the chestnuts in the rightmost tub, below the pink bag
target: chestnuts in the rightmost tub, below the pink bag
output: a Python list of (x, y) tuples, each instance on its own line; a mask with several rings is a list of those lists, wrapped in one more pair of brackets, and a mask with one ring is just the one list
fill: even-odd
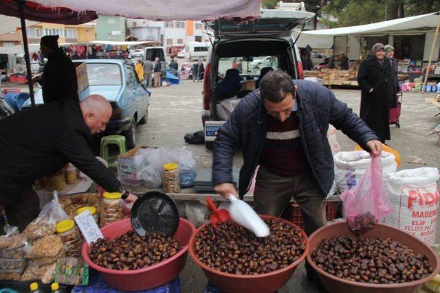
[(329, 274), (360, 283), (406, 283), (432, 272), (426, 255), (390, 238), (325, 239), (311, 257)]

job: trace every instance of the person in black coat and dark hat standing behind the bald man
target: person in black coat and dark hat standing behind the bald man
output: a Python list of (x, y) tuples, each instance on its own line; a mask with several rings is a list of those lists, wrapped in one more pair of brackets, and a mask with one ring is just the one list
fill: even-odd
[(43, 70), (43, 101), (45, 103), (61, 99), (78, 101), (76, 69), (63, 49), (58, 48), (58, 36), (43, 36), (40, 47), (47, 58)]

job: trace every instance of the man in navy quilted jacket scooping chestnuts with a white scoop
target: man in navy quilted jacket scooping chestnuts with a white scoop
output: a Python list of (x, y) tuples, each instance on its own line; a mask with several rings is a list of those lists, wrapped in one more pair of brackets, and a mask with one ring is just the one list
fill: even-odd
[(294, 196), (308, 235), (326, 224), (325, 197), (333, 184), (329, 123), (373, 155), (380, 141), (347, 104), (324, 86), (271, 71), (260, 89), (243, 98), (214, 142), (212, 181), (218, 194), (237, 196), (232, 185), (234, 147), (243, 151), (239, 196), (248, 191), (257, 165), (257, 213), (279, 216)]

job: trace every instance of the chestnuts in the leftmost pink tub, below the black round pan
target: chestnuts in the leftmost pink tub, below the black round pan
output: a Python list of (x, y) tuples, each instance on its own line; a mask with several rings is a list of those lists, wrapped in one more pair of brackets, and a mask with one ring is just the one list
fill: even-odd
[(136, 270), (153, 266), (179, 251), (179, 241), (164, 234), (147, 233), (144, 237), (129, 231), (115, 239), (91, 242), (89, 256), (98, 266), (113, 270)]

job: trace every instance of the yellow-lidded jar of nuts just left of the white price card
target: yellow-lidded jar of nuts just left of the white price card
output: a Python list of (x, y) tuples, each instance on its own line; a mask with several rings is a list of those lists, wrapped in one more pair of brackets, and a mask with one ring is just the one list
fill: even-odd
[(83, 240), (73, 220), (65, 220), (56, 224), (56, 233), (63, 240), (63, 248), (67, 257), (81, 257)]

